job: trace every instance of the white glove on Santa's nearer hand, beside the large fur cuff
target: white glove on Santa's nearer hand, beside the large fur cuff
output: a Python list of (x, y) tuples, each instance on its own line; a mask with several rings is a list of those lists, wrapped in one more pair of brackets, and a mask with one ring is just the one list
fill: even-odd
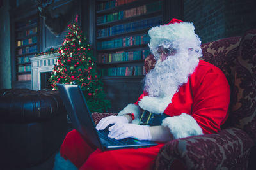
[(110, 131), (108, 134), (109, 138), (124, 139), (128, 137), (132, 137), (139, 140), (148, 140), (148, 141), (152, 139), (150, 130), (146, 125), (117, 123), (109, 127), (108, 130)]

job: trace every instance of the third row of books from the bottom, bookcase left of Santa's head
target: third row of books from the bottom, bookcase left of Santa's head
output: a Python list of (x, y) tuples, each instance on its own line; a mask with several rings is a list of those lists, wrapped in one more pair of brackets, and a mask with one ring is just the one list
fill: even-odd
[(142, 45), (150, 41), (148, 34), (129, 36), (125, 38), (118, 38), (109, 41), (97, 42), (97, 50), (106, 50), (109, 48), (120, 48), (124, 46)]

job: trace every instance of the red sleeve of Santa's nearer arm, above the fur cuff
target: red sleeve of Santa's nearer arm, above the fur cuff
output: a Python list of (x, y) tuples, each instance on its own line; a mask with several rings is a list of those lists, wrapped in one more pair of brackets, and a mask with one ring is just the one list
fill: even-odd
[(211, 64), (198, 70), (195, 77), (192, 117), (204, 134), (216, 133), (228, 117), (230, 87), (227, 78)]

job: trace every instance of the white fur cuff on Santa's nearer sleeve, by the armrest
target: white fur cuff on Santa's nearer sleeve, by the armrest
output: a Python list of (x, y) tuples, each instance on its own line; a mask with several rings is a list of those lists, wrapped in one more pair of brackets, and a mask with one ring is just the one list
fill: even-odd
[(169, 127), (174, 139), (203, 134), (196, 120), (186, 113), (175, 117), (164, 118), (162, 125)]

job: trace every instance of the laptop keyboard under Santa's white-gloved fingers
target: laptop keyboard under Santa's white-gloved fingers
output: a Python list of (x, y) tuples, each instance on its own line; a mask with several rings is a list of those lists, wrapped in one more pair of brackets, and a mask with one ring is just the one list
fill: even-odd
[(106, 127), (104, 130), (98, 131), (98, 134), (99, 134), (100, 138), (108, 141), (108, 143), (111, 143), (113, 145), (127, 145), (127, 144), (134, 143), (134, 138), (125, 138), (125, 139), (120, 139), (120, 140), (109, 138), (108, 137), (108, 134), (109, 134), (108, 127)]

